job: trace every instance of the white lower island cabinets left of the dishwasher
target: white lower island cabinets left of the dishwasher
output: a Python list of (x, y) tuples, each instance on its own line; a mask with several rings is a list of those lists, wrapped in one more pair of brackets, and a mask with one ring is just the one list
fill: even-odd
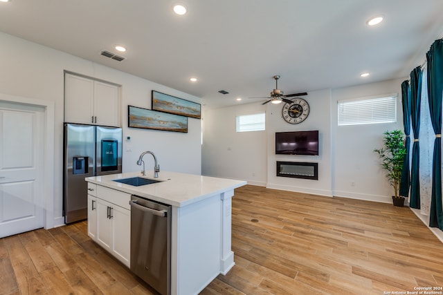
[[(89, 236), (124, 265), (130, 267), (131, 211), (125, 208), (126, 206), (121, 206), (125, 205), (124, 201), (127, 200), (129, 207), (130, 195), (97, 186), (96, 202), (93, 202), (93, 198), (88, 196)], [(112, 202), (113, 200), (118, 204)], [(92, 207), (93, 205), (95, 207)]]

